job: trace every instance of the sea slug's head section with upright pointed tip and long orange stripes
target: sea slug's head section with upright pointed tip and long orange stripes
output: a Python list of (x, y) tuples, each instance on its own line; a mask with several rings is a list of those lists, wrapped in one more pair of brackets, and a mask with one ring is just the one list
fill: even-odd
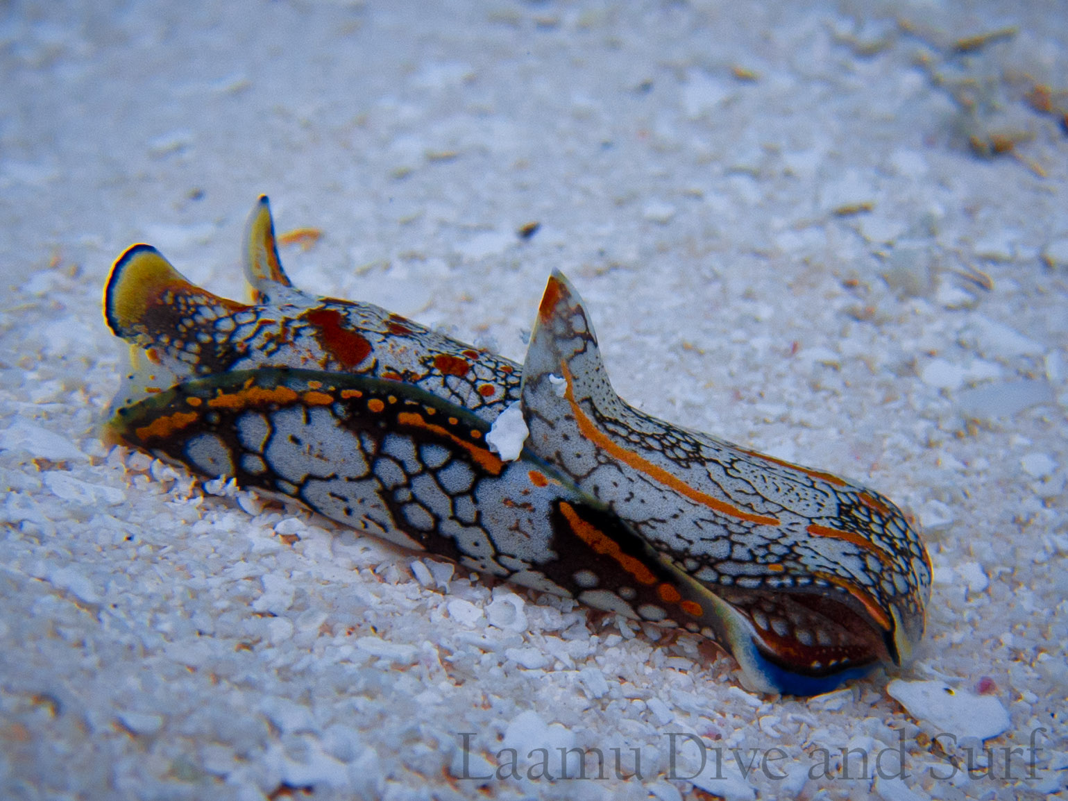
[(559, 272), (523, 363), (522, 407), (530, 451), (729, 607), (731, 650), (754, 661), (747, 673), (774, 685), (789, 671), (791, 686), (819, 689), (899, 664), (923, 635), (930, 561), (891, 501), (628, 406)]

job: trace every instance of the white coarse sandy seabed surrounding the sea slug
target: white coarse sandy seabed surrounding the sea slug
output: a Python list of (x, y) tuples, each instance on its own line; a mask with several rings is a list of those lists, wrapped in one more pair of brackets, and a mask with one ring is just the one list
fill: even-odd
[[(0, 796), (1065, 798), (1068, 15), (957, 6), (4, 4)], [(239, 297), (260, 192), (307, 288), (521, 359), (559, 267), (624, 397), (910, 509), (914, 661), (754, 695), (105, 446), (111, 261)]]

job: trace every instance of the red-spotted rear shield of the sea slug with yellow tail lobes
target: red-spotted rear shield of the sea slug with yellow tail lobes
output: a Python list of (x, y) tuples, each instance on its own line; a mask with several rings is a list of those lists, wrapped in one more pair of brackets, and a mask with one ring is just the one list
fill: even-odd
[(267, 198), (247, 226), (245, 272), (254, 303), (203, 289), (148, 245), (115, 262), (108, 327), (131, 345), (134, 370), (112, 410), (188, 378), (296, 367), (412, 384), (492, 422), (519, 399), (519, 365), (373, 303), (294, 287), (278, 255)]

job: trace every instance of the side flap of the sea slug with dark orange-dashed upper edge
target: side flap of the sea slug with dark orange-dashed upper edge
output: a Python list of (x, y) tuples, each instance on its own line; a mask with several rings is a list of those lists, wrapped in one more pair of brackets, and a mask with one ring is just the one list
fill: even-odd
[(123, 407), (111, 426), (202, 475), (480, 572), (632, 618), (720, 626), (719, 599), (630, 527), (530, 452), (502, 461), (486, 421), (410, 384), (233, 371)]

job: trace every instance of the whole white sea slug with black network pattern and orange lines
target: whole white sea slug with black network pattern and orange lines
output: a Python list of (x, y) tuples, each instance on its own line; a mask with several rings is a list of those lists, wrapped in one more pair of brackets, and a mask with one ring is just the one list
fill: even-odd
[[(824, 692), (921, 637), (930, 566), (897, 508), (631, 409), (559, 273), (522, 370), (292, 286), (266, 198), (246, 273), (251, 304), (148, 246), (116, 261), (105, 317), (136, 368), (112, 431), (405, 547), (701, 633), (754, 689)], [(487, 434), (520, 397), (531, 436), (503, 461)]]

